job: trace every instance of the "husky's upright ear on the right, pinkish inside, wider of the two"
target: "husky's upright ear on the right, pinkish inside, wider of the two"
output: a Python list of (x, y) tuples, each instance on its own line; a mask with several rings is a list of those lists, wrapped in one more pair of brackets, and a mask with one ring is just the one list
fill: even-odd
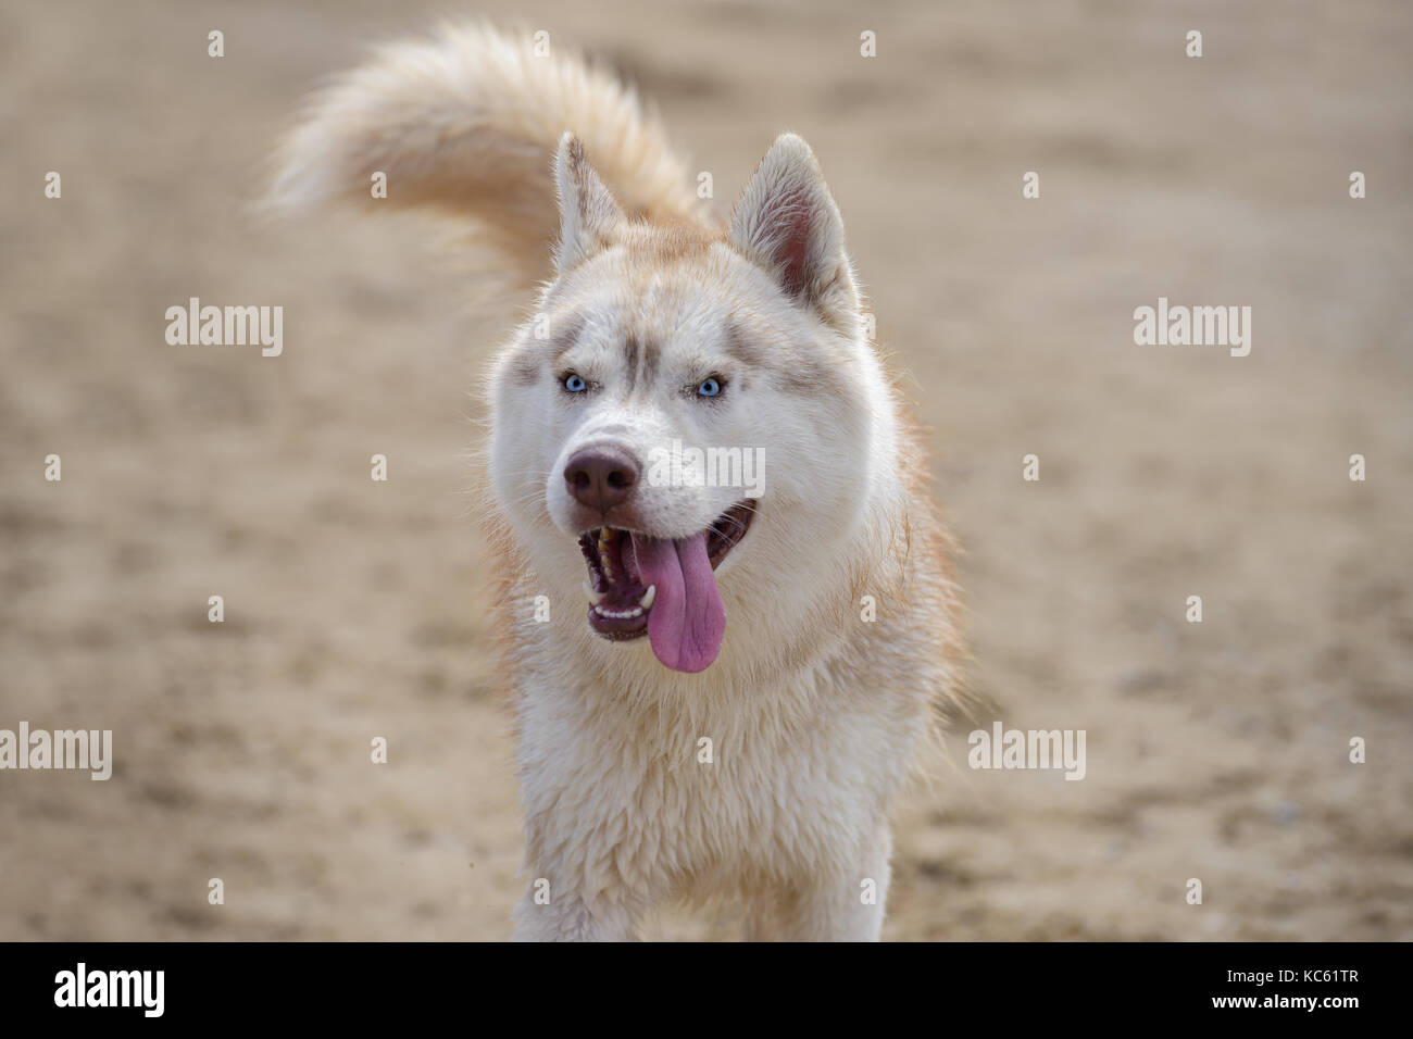
[(731, 239), (788, 297), (841, 329), (856, 324), (859, 290), (844, 219), (803, 137), (780, 134), (770, 146), (732, 213)]

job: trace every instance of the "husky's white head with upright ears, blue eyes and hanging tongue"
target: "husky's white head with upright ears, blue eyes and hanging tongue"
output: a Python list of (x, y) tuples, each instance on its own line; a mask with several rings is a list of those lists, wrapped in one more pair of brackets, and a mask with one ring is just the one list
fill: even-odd
[(493, 491), (541, 578), (584, 575), (592, 632), (699, 671), (728, 604), (808, 619), (869, 495), (883, 390), (844, 225), (793, 134), (716, 235), (630, 221), (568, 134), (555, 175), (555, 278), (492, 375)]

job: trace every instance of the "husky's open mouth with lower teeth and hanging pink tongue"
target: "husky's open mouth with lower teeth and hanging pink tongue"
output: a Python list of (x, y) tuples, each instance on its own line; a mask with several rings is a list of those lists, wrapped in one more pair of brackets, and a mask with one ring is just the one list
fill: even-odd
[(647, 635), (657, 659), (701, 671), (716, 659), (726, 630), (714, 571), (750, 529), (755, 502), (736, 502), (715, 523), (684, 539), (598, 527), (579, 536), (589, 567), (589, 628), (605, 639)]

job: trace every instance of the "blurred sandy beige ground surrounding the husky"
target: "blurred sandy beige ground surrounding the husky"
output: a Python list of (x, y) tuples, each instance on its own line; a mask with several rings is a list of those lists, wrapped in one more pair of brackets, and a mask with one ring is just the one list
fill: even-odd
[[(324, 76), (462, 16), (613, 64), (725, 204), (781, 130), (822, 163), (982, 701), (886, 937), (1413, 937), (1407, 4), (95, 0), (0, 7), (0, 728), (116, 766), (0, 772), (0, 939), (509, 936), (466, 455), (520, 301), (431, 221), (249, 213)], [(283, 305), (283, 356), (168, 346), (192, 295)], [(1136, 346), (1160, 295), (1252, 307), (1251, 356)], [(992, 717), (1087, 729), (1084, 782), (966, 769)]]

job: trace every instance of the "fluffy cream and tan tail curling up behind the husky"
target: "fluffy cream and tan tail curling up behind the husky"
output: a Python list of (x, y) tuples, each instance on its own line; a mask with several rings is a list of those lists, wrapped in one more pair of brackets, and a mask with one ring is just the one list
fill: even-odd
[(569, 130), (630, 216), (708, 219), (634, 92), (536, 35), (445, 25), (430, 41), (380, 48), (311, 99), (278, 155), (270, 206), (341, 199), (466, 216), (476, 243), (534, 284), (550, 273), (552, 164)]

